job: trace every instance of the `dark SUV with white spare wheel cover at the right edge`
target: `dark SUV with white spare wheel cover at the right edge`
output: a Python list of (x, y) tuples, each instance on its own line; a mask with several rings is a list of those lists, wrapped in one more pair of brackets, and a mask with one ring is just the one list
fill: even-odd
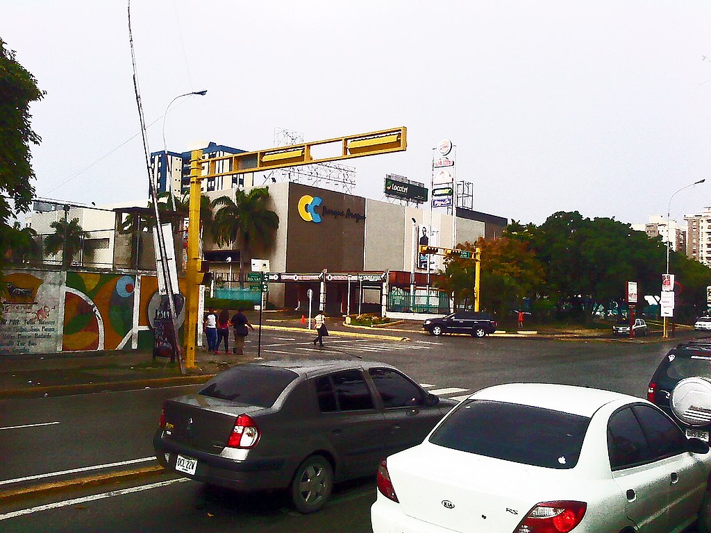
[(652, 376), (647, 399), (685, 429), (688, 437), (709, 441), (711, 431), (711, 339), (669, 350)]

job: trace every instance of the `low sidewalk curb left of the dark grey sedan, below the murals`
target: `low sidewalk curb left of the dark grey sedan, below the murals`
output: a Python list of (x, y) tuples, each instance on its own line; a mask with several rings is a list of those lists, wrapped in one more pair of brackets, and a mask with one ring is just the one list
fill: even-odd
[(156, 377), (152, 379), (134, 379), (131, 381), (81, 383), (73, 385), (50, 385), (47, 387), (34, 387), (32, 389), (6, 389), (0, 390), (0, 399), (3, 398), (37, 398), (44, 396), (68, 396), (69, 394), (90, 394), (92, 392), (116, 392), (132, 388), (145, 388), (151, 385), (190, 385), (204, 383), (215, 374), (201, 374), (195, 376)]

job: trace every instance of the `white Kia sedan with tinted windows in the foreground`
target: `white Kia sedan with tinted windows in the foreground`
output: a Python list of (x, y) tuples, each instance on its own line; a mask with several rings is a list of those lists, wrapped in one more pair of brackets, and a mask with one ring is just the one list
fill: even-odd
[(555, 384), (482, 389), (387, 458), (374, 533), (708, 532), (709, 446), (646, 400)]

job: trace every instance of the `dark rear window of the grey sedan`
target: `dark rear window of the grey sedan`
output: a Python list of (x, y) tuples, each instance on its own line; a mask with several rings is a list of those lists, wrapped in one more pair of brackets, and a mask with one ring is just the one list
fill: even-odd
[(210, 379), (199, 394), (245, 405), (272, 407), (279, 394), (297, 376), (296, 372), (279, 367), (231, 368)]

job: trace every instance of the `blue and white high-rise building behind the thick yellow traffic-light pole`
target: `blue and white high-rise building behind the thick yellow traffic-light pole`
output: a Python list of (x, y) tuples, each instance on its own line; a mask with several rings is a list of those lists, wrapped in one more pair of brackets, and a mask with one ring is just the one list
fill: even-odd
[[(229, 154), (242, 154), (242, 152), (244, 152), (244, 150), (223, 144), (216, 144), (214, 142), (210, 142), (202, 151), (203, 159), (205, 160), (227, 156)], [(156, 190), (159, 194), (166, 192), (169, 188), (177, 193), (178, 196), (188, 192), (190, 189), (190, 158), (190, 151), (178, 153), (161, 150), (151, 154), (151, 175), (153, 176)], [(206, 165), (207, 163), (205, 163), (203, 167)], [(220, 161), (216, 171), (230, 171), (231, 169), (228, 168), (228, 165), (228, 161)], [(229, 180), (230, 183), (225, 183), (226, 180)], [(247, 185), (252, 185), (252, 183), (247, 183)], [(213, 190), (236, 188), (245, 188), (245, 174), (239, 174), (229, 178), (210, 178), (204, 180), (202, 183), (203, 193)]]

